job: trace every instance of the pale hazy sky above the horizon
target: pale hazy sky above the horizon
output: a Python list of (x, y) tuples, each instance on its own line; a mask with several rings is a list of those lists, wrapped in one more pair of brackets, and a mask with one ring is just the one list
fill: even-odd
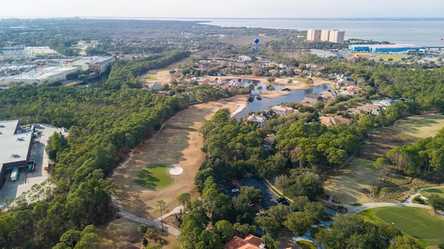
[(444, 17), (439, 0), (1, 0), (0, 17)]

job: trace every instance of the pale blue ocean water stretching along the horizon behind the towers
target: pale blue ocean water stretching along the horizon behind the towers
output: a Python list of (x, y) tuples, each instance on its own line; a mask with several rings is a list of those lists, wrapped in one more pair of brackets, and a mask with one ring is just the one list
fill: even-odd
[[(188, 20), (189, 19), (184, 19)], [(203, 19), (221, 27), (345, 30), (345, 39), (356, 38), (394, 44), (443, 46), (444, 19)]]

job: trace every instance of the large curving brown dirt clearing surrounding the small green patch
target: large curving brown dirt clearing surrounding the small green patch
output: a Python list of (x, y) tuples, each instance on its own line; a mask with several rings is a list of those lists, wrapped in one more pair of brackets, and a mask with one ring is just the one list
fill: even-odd
[[(237, 96), (196, 104), (169, 120), (165, 128), (139, 147), (134, 152), (133, 159), (115, 174), (116, 194), (123, 208), (137, 216), (155, 219), (160, 216), (160, 212), (155, 208), (158, 200), (165, 201), (167, 209), (173, 210), (178, 205), (178, 194), (188, 192), (192, 198), (196, 197), (194, 174), (205, 158), (205, 154), (200, 151), (203, 138), (198, 133), (198, 128), (203, 120), (211, 118), (217, 110), (228, 108), (234, 111), (238, 107), (237, 104), (245, 104), (247, 100), (248, 96)], [(182, 167), (184, 172), (172, 176), (173, 183), (161, 190), (146, 190), (137, 185), (134, 179), (137, 173), (152, 163)]]

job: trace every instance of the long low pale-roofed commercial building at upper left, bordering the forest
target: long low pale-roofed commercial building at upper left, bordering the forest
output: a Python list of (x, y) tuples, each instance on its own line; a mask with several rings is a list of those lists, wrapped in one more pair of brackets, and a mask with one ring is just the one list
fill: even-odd
[(77, 68), (49, 66), (45, 68), (36, 68), (33, 71), (12, 75), (6, 77), (6, 85), (11, 83), (24, 82), (25, 84), (39, 84), (56, 80), (66, 80), (69, 73), (76, 73)]

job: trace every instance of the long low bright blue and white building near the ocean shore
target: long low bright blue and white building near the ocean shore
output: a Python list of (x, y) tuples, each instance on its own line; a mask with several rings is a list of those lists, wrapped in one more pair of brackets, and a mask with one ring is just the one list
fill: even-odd
[(409, 53), (425, 51), (426, 48), (413, 44), (355, 44), (349, 45), (348, 49), (353, 52)]

